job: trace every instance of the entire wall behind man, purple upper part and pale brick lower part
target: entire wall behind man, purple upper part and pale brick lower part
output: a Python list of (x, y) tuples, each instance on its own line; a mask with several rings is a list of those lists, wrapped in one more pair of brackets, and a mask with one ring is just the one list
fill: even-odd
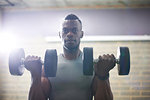
[[(43, 59), (47, 48), (56, 48), (59, 53), (61, 52), (61, 43), (46, 43), (43, 37), (58, 34), (60, 19), (68, 13), (81, 16), (85, 35), (150, 35), (149, 10), (4, 11), (2, 21), (4, 31), (20, 36), (20, 41), (17, 43), (25, 48), (26, 55), (38, 55)], [(130, 75), (118, 76), (117, 67), (110, 72), (114, 100), (150, 100), (150, 41), (83, 42), (81, 44), (81, 48), (86, 46), (94, 48), (95, 58), (106, 53), (116, 55), (118, 46), (128, 46), (131, 53)], [(11, 76), (8, 69), (8, 56), (8, 52), (0, 52), (0, 100), (27, 100), (30, 73), (25, 70), (22, 76)]]

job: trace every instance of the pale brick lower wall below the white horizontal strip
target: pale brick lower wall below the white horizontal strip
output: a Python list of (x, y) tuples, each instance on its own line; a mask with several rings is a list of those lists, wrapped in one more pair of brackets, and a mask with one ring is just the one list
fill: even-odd
[[(94, 48), (94, 58), (102, 54), (117, 53), (118, 46), (128, 46), (131, 56), (131, 70), (128, 76), (119, 76), (117, 67), (110, 72), (110, 84), (114, 100), (150, 100), (150, 42), (82, 42), (83, 47)], [(61, 43), (46, 43), (42, 39), (22, 42), (26, 54), (42, 56), (47, 48), (56, 48), (61, 52)], [(1, 55), (2, 56), (2, 55)], [(5, 63), (0, 63), (0, 100), (27, 100), (30, 88), (30, 73), (25, 70), (23, 76), (11, 76), (8, 69), (8, 54), (3, 55)]]

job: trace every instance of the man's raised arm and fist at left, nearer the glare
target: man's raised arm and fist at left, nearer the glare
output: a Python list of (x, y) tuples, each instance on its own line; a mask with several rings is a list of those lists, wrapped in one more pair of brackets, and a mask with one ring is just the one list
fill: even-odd
[(50, 94), (50, 82), (44, 77), (44, 69), (40, 57), (27, 56), (25, 68), (31, 73), (31, 87), (28, 100), (47, 100)]

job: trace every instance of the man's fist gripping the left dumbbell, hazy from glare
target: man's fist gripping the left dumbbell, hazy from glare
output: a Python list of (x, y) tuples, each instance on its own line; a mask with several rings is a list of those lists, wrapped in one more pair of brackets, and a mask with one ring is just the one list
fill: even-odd
[(27, 56), (24, 65), (25, 68), (31, 72), (33, 78), (41, 77), (42, 63), (40, 57)]

